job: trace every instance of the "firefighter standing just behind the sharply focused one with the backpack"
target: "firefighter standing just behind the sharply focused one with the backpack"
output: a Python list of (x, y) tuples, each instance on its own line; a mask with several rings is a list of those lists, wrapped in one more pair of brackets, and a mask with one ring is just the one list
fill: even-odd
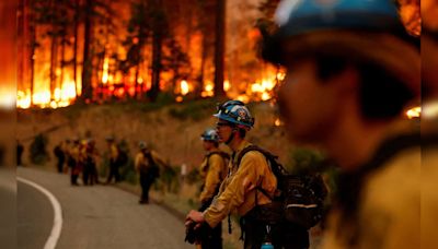
[[(210, 206), (212, 199), (219, 192), (219, 187), (228, 173), (229, 155), (219, 149), (219, 137), (216, 130), (207, 129), (201, 135), (203, 146), (206, 151), (203, 164), (200, 165), (200, 176), (204, 179), (199, 201), (200, 212)], [(207, 230), (201, 238), (201, 248), (220, 249), (222, 248), (222, 223), (215, 228)]]

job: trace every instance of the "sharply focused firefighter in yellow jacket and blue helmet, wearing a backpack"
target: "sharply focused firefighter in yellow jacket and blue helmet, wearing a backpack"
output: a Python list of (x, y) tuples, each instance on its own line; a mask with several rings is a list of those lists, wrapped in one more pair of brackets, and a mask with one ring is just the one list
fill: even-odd
[[(207, 225), (214, 228), (231, 212), (237, 211), (244, 221), (244, 248), (261, 248), (268, 230), (256, 214), (258, 209), (272, 202), (266, 194), (274, 195), (277, 179), (258, 151), (247, 152), (241, 158), (240, 165), (237, 165), (240, 152), (251, 145), (245, 135), (253, 128), (254, 119), (246, 106), (239, 100), (229, 100), (220, 105), (214, 116), (218, 118), (216, 126), (219, 141), (224, 142), (232, 151), (230, 170), (211, 205), (204, 212), (192, 210), (186, 216), (185, 225), (191, 227), (196, 223), (198, 227)], [(258, 188), (265, 193), (258, 191)]]

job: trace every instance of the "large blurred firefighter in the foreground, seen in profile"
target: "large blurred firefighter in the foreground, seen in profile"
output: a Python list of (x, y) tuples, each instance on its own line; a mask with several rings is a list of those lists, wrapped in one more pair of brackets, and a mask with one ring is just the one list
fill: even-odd
[[(389, 0), (281, 1), (265, 59), (287, 68), (278, 103), (290, 140), (339, 165), (323, 248), (419, 248), (417, 40)], [(418, 103), (415, 103), (418, 104)]]

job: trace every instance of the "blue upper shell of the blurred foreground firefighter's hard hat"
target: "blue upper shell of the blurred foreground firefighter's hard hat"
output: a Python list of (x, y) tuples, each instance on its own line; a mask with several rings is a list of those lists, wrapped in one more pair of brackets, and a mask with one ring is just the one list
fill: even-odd
[(284, 36), (333, 28), (403, 29), (390, 0), (284, 0), (276, 22)]

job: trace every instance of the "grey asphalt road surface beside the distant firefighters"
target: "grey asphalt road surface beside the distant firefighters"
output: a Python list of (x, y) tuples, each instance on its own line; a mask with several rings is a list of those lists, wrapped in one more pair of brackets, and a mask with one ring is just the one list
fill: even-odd
[[(64, 222), (57, 249), (193, 248), (184, 242), (184, 225), (180, 220), (155, 204), (139, 205), (138, 197), (131, 193), (108, 186), (71, 187), (67, 175), (30, 168), (19, 168), (16, 175), (46, 188), (59, 201)], [(28, 210), (30, 204), (25, 204), (28, 201), (41, 202), (32, 205), (35, 209), (33, 213), (26, 212), (26, 215), (39, 216), (34, 217), (37, 225), (33, 225), (39, 227), (41, 234), (46, 233), (43, 227), (47, 220), (53, 223), (53, 214), (46, 215), (53, 209), (39, 201), (39, 197), (28, 188), (19, 183), (20, 240), (26, 240), (34, 233), (23, 229), (24, 222), (27, 227), (32, 225), (31, 220), (21, 217), (21, 211)], [(22, 245), (24, 242), (20, 241), (19, 246)]]

